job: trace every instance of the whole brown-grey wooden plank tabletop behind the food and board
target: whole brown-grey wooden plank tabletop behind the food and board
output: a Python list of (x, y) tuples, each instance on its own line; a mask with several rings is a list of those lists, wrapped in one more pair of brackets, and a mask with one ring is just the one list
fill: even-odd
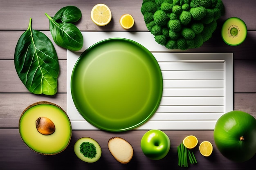
[[(256, 1), (222, 0), (225, 15), (218, 20), (218, 28), (212, 38), (198, 49), (184, 52), (231, 52), (234, 53), (234, 110), (243, 110), (256, 117)], [(99, 27), (90, 19), (90, 11), (95, 4), (105, 3), (112, 11), (112, 21)], [(171, 139), (171, 150), (159, 161), (146, 158), (140, 148), (140, 139), (146, 130), (126, 132), (106, 132), (102, 130), (73, 130), (69, 146), (58, 155), (39, 155), (25, 146), (18, 132), (18, 120), (22, 111), (38, 101), (54, 102), (66, 110), (66, 50), (57, 46), (49, 32), (49, 20), (45, 13), (54, 15), (67, 5), (79, 7), (82, 19), (77, 23), (81, 31), (125, 31), (119, 25), (119, 17), (130, 13), (135, 26), (129, 31), (148, 31), (140, 12), (142, 0), (0, 0), (0, 169), (1, 170), (51, 170), (51, 169), (134, 169), (161, 170), (184, 169), (178, 166), (177, 146), (187, 135), (195, 135), (199, 141), (208, 140), (213, 144), (211, 157), (203, 157), (195, 151), (198, 160), (189, 169), (242, 170), (254, 169), (256, 156), (245, 163), (234, 163), (223, 157), (213, 140), (213, 130), (164, 130)], [(230, 17), (238, 17), (247, 24), (247, 38), (239, 46), (228, 46), (220, 36), (223, 22)], [(58, 93), (54, 96), (34, 95), (27, 91), (14, 68), (14, 49), (20, 35), (27, 30), (29, 18), (32, 27), (45, 33), (52, 40), (59, 58), (60, 75)], [(174, 50), (175, 51), (175, 50)], [(108, 139), (123, 137), (134, 148), (134, 156), (128, 164), (118, 163), (107, 147)], [(74, 154), (74, 142), (80, 137), (92, 137), (102, 147), (102, 156), (96, 163), (85, 163)]]

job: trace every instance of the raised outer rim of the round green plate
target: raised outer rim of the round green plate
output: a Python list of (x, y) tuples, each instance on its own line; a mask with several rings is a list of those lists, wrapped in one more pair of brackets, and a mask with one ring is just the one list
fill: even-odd
[[(75, 97), (72, 95), (72, 80), (73, 80), (73, 73), (75, 71), (75, 68), (76, 66), (78, 65), (79, 61), (81, 60), (81, 56), (85, 55), (85, 53), (88, 53), (90, 52), (92, 49), (94, 49), (95, 47), (103, 44), (103, 43), (106, 43), (106, 42), (110, 42), (110, 41), (125, 41), (125, 42), (129, 42), (129, 43), (132, 43), (132, 44), (135, 44), (136, 46), (138, 46), (141, 50), (143, 51), (146, 51), (148, 53), (148, 56), (150, 56), (152, 59), (153, 59), (153, 62), (154, 64), (156, 64), (159, 69), (158, 70), (158, 75), (159, 75), (159, 79), (161, 79), (162, 81), (159, 81), (159, 86), (160, 86), (160, 89), (159, 89), (159, 96), (157, 98), (157, 102), (155, 104), (155, 107), (154, 109), (151, 111), (150, 114), (148, 114), (148, 116), (146, 118), (144, 118), (142, 121), (140, 121), (140, 123), (138, 124), (135, 124), (133, 126), (130, 126), (130, 127), (127, 127), (127, 128), (119, 128), (119, 129), (112, 129), (112, 128), (106, 128), (106, 127), (102, 127), (102, 126), (99, 126), (98, 124), (95, 124), (94, 122), (91, 122), (90, 120), (87, 120), (82, 114), (81, 114), (81, 110), (79, 110), (79, 108), (77, 108), (76, 104), (75, 104)], [(106, 130), (106, 131), (110, 131), (110, 132), (122, 132), (122, 131), (127, 131), (127, 130), (131, 130), (133, 128), (136, 128), (138, 126), (141, 126), (142, 124), (144, 124), (146, 121), (148, 121), (156, 112), (157, 108), (159, 107), (160, 105), (160, 102), (161, 102), (161, 99), (162, 99), (162, 93), (163, 93), (163, 77), (162, 77), (162, 71), (160, 69), (160, 66), (157, 62), (157, 60), (155, 59), (155, 56), (148, 50), (146, 49), (146, 47), (144, 47), (143, 45), (139, 44), (138, 42), (135, 42), (134, 40), (130, 40), (130, 39), (127, 39), (127, 38), (108, 38), (108, 39), (105, 39), (105, 40), (101, 40), (95, 44), (93, 44), (92, 46), (90, 46), (88, 49), (86, 49), (81, 55), (80, 57), (77, 59), (75, 65), (74, 65), (74, 68), (72, 70), (72, 74), (71, 74), (71, 80), (70, 80), (70, 90), (71, 90), (71, 96), (72, 96), (72, 100), (74, 102), (74, 105), (77, 109), (77, 111), (79, 112), (79, 114), (86, 120), (88, 121), (88, 123), (92, 124), (93, 126), (95, 126), (96, 128), (99, 128), (100, 130)]]

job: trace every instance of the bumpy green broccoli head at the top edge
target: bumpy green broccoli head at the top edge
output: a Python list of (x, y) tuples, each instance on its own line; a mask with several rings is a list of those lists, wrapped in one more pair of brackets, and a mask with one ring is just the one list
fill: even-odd
[(211, 38), (225, 8), (222, 0), (143, 0), (141, 13), (158, 44), (186, 50)]

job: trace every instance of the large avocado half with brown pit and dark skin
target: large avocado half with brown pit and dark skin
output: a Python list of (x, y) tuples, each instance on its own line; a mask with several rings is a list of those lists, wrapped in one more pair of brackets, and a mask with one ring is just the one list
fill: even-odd
[(42, 155), (56, 155), (70, 143), (72, 127), (65, 111), (51, 102), (36, 102), (21, 114), (19, 132), (22, 141)]

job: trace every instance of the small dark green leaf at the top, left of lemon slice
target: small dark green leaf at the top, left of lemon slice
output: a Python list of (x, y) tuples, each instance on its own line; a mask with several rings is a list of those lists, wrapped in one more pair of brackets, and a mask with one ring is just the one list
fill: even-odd
[(82, 13), (79, 8), (75, 6), (63, 7), (54, 15), (52, 19), (55, 21), (61, 20), (62, 22), (76, 22), (80, 20)]

